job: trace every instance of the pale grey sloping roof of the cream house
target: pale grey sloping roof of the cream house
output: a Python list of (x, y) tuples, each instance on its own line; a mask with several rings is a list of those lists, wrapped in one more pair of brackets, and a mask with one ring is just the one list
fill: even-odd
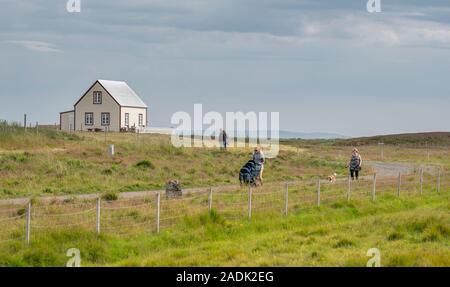
[(123, 107), (147, 108), (142, 99), (123, 81), (97, 80), (100, 85)]

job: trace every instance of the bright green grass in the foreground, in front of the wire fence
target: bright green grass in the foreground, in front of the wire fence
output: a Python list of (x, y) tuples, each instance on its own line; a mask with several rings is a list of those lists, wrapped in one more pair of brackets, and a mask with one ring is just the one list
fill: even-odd
[(365, 266), (367, 250), (376, 247), (383, 266), (449, 266), (449, 199), (449, 193), (385, 196), (287, 218), (255, 215), (251, 224), (205, 214), (131, 239), (50, 232), (29, 247), (6, 245), (0, 265), (63, 266), (66, 250), (76, 247), (84, 266)]

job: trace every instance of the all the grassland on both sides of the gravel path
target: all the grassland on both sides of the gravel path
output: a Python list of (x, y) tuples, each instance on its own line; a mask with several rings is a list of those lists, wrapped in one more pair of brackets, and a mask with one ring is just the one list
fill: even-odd
[[(392, 143), (394, 139), (389, 138)], [(419, 136), (417, 143), (422, 141)], [(18, 240), (1, 242), (0, 237), (0, 266), (64, 266), (69, 248), (80, 249), (84, 266), (365, 266), (366, 252), (372, 247), (380, 249), (383, 266), (449, 266), (449, 149), (414, 145), (412, 135), (398, 137), (396, 143), (408, 145), (386, 144), (384, 159), (374, 140), (358, 148), (364, 161), (440, 167), (446, 176), (440, 194), (436, 174), (427, 174), (420, 195), (415, 173), (402, 179), (400, 198), (395, 196), (392, 178), (379, 182), (375, 202), (370, 200), (370, 180), (355, 186), (347, 202), (343, 181), (324, 185), (323, 204), (315, 207), (316, 179), (333, 172), (347, 176), (351, 147), (336, 141), (289, 140), (282, 142), (279, 156), (266, 164), (268, 184), (255, 192), (251, 223), (246, 219), (245, 191), (216, 195), (211, 214), (207, 194), (178, 201), (183, 203), (163, 201), (160, 234), (154, 232), (154, 197), (128, 199), (104, 203), (106, 230), (98, 236), (93, 228), (94, 201), (41, 204), (39, 197), (154, 190), (163, 188), (168, 179), (181, 180), (183, 187), (236, 184), (252, 150), (174, 148), (163, 135), (24, 131), (0, 123), (0, 199), (30, 197), (36, 218), (33, 240), (26, 245), (23, 206), (2, 206), (3, 215), (17, 216), (20, 222), (11, 235)], [(109, 144), (115, 144), (114, 157), (107, 154)], [(363, 175), (372, 173), (364, 166)], [(305, 184), (290, 186), (292, 203), (284, 217), (282, 185), (275, 182), (293, 180)], [(270, 195), (264, 197), (266, 192)], [(123, 209), (125, 205), (132, 208)], [(188, 209), (195, 212), (183, 216)], [(71, 226), (59, 212), (72, 214), (67, 218), (82, 224)], [(0, 216), (0, 225), (6, 222), (2, 220)], [(127, 232), (120, 234), (115, 228)]]

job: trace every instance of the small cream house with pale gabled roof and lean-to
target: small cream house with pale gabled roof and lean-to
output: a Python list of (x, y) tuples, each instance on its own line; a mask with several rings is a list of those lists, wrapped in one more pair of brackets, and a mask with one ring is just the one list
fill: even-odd
[(97, 80), (75, 103), (60, 113), (65, 131), (125, 131), (147, 126), (147, 105), (121, 81)]

